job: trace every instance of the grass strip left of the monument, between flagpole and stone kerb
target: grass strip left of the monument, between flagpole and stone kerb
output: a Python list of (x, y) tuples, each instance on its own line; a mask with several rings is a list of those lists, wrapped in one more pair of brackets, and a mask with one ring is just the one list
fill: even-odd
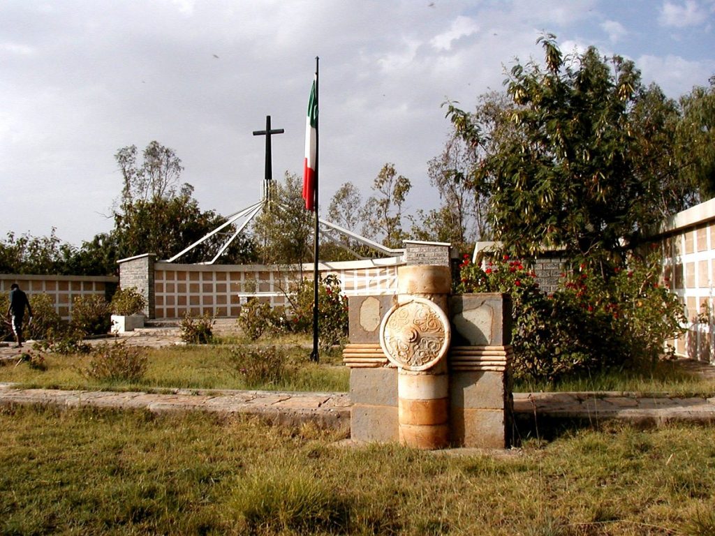
[(0, 382), (18, 382), (24, 387), (57, 389), (270, 389), (287, 391), (347, 391), (350, 371), (340, 364), (339, 352), (324, 355), (320, 364), (310, 362), (310, 349), (281, 342), (287, 352), (290, 373), (272, 384), (247, 384), (232, 354), (240, 346), (211, 344), (146, 349), (147, 373), (141, 381), (108, 383), (87, 379), (87, 355), (46, 354), (46, 370), (23, 363), (0, 365)]

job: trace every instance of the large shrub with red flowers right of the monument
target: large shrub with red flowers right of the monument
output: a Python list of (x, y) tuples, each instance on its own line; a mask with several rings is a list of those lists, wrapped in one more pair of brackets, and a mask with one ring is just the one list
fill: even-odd
[(581, 264), (562, 274), (548, 296), (536, 274), (506, 254), (484, 269), (465, 258), (457, 291), (509, 294), (514, 374), (553, 382), (609, 367), (652, 366), (681, 329), (682, 307), (658, 282), (658, 258), (632, 257), (629, 264), (608, 277)]

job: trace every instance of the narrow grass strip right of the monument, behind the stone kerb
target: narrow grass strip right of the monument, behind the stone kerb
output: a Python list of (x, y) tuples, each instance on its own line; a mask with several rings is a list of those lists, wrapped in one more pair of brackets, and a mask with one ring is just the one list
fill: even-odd
[(516, 392), (621, 391), (674, 396), (713, 396), (715, 378), (704, 378), (684, 370), (677, 361), (661, 361), (654, 369), (613, 370), (567, 377), (555, 383), (516, 381)]

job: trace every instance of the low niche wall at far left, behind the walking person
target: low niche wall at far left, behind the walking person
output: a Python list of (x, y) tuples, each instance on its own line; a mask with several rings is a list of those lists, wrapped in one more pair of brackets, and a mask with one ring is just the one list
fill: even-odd
[(77, 296), (99, 294), (107, 300), (114, 294), (118, 277), (0, 274), (0, 292), (8, 294), (10, 285), (19, 284), (29, 299), (34, 294), (48, 294), (54, 309), (64, 320), (71, 319), (72, 300)]

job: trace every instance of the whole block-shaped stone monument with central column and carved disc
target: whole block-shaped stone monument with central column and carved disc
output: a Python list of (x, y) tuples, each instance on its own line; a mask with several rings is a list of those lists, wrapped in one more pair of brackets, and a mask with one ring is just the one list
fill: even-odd
[[(508, 296), (450, 296), (450, 245), (406, 245), (398, 294), (349, 299), (343, 362), (350, 367), (352, 439), (422, 449), (508, 447)], [(425, 259), (440, 264), (420, 264)]]

